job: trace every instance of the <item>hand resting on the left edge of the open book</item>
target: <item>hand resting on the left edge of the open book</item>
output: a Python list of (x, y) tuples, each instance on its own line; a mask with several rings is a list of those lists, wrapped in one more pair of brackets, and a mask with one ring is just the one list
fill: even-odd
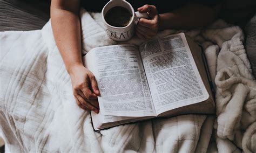
[(77, 105), (84, 110), (99, 112), (99, 89), (95, 76), (83, 65), (72, 67), (70, 77)]

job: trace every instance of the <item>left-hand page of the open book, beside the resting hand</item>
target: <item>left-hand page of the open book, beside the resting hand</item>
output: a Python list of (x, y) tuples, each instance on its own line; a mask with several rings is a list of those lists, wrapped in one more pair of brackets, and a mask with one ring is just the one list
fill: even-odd
[(133, 45), (93, 48), (85, 56), (95, 75), (100, 113), (114, 116), (155, 116), (139, 51)]

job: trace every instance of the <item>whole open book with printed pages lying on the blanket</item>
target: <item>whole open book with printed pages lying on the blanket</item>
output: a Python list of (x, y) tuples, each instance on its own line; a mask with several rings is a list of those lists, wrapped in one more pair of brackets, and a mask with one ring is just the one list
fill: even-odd
[(215, 113), (201, 48), (187, 43), (184, 33), (139, 47), (96, 47), (83, 60), (101, 94), (99, 114), (91, 112), (95, 130), (153, 117)]

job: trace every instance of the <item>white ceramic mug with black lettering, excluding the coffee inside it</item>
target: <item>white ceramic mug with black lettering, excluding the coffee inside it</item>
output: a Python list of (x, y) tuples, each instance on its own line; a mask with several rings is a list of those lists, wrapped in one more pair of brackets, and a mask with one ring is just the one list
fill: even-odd
[[(132, 17), (128, 25), (124, 27), (116, 27), (108, 24), (105, 20), (106, 12), (109, 11), (114, 6), (122, 6), (130, 11)], [(105, 24), (106, 33), (110, 38), (116, 41), (126, 41), (132, 38), (134, 34), (134, 25), (137, 23), (139, 18), (148, 18), (147, 13), (134, 12), (132, 5), (125, 0), (111, 0), (106, 3), (102, 9), (102, 19)]]

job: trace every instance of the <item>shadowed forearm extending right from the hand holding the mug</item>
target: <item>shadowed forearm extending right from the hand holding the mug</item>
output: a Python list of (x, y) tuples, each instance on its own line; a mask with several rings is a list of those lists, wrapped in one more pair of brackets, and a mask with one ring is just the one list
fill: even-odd
[(217, 17), (217, 11), (201, 4), (189, 4), (160, 14), (160, 30), (204, 26)]

